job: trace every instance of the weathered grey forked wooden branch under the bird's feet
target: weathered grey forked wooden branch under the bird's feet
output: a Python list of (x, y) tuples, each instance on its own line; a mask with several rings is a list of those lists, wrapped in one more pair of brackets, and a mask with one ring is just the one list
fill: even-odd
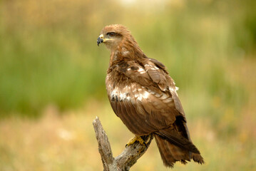
[(123, 152), (117, 157), (113, 157), (111, 145), (108, 141), (108, 136), (103, 130), (101, 121), (96, 117), (93, 120), (93, 128), (96, 133), (96, 139), (98, 141), (98, 151), (101, 154), (101, 160), (103, 162), (104, 171), (127, 171), (130, 170), (135, 162), (148, 150), (152, 135), (143, 136), (143, 140), (146, 142), (145, 145), (140, 145), (139, 142), (133, 143), (126, 147)]

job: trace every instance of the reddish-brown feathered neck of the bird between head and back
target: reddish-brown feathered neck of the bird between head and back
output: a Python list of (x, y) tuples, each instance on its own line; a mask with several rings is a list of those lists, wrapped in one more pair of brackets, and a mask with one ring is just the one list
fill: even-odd
[(137, 61), (145, 58), (143, 51), (136, 41), (123, 41), (116, 48), (111, 48), (109, 66), (116, 65), (121, 61)]

